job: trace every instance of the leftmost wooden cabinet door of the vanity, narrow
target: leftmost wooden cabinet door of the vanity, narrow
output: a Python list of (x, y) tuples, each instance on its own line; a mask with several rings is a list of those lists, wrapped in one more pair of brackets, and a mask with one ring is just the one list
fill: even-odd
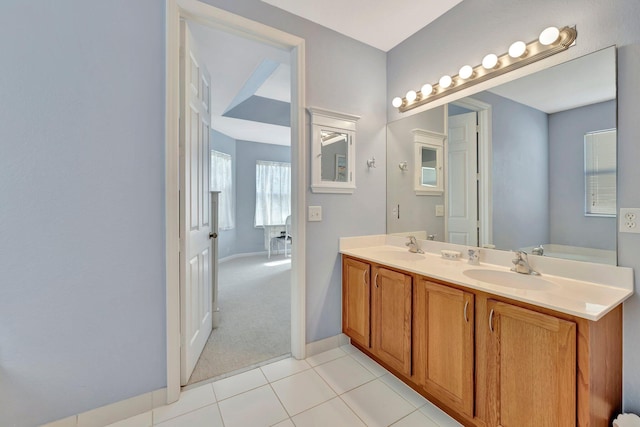
[(352, 258), (342, 262), (342, 332), (352, 341), (370, 346), (371, 266)]

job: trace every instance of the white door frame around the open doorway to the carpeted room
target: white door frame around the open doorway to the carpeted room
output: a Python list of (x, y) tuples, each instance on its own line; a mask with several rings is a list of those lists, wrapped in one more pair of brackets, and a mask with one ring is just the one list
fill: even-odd
[(289, 51), (291, 55), (291, 354), (305, 357), (304, 210), (307, 187), (304, 39), (197, 0), (166, 0), (165, 39), (165, 259), (167, 403), (180, 397), (180, 19), (188, 19)]

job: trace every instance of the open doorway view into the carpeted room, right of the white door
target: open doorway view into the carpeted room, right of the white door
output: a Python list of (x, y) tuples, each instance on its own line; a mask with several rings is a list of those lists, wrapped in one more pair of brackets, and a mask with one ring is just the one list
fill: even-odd
[(292, 258), (282, 253), (291, 239), (280, 237), (291, 215), (291, 67), (288, 51), (191, 20), (184, 25), (200, 72), (210, 76), (201, 85), (211, 91), (208, 178), (220, 199), (219, 262), (211, 263), (219, 321), (182, 378), (193, 385), (291, 352)]

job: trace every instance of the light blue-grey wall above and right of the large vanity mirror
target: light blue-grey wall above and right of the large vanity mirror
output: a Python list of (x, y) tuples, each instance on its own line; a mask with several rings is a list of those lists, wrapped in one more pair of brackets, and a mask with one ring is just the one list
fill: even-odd
[[(514, 40), (533, 40), (549, 25), (576, 25), (578, 41), (562, 54), (570, 59), (618, 46), (618, 206), (640, 206), (640, 2), (582, 0), (474, 0), (459, 3), (440, 19), (391, 50), (387, 62), (387, 114), (400, 115), (391, 99), (425, 82), (436, 82), (461, 65), (478, 64), (487, 52), (505, 52)], [(618, 263), (636, 270), (640, 281), (640, 235), (618, 235)], [(640, 412), (640, 295), (624, 304), (623, 400)]]

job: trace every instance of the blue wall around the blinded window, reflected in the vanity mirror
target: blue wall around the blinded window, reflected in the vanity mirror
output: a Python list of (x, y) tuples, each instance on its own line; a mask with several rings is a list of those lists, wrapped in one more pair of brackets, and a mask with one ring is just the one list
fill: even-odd
[(584, 135), (616, 127), (616, 101), (549, 115), (550, 243), (616, 249), (616, 218), (584, 215)]

